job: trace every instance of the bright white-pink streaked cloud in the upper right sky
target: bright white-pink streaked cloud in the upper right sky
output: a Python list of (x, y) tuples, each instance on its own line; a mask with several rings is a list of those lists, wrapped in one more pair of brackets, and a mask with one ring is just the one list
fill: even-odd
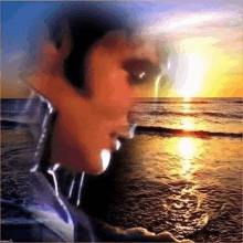
[[(173, 3), (177, 1), (173, 1)], [(236, 2), (236, 1), (235, 1)], [(220, 6), (220, 3), (222, 6)], [(205, 4), (205, 1), (178, 3), (168, 11), (150, 13), (145, 32), (156, 35), (184, 39), (192, 36), (216, 36), (220, 30), (242, 32), (243, 10), (240, 4)], [(219, 34), (219, 39), (224, 35)]]

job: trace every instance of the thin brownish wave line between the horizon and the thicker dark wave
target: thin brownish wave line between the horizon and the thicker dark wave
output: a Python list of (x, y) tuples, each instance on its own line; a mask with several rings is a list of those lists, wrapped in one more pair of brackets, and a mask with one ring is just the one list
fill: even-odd
[(175, 113), (175, 112), (150, 112), (147, 113), (151, 116), (167, 116), (167, 115), (176, 115), (176, 116), (192, 116), (192, 117), (201, 117), (201, 116), (213, 116), (213, 117), (220, 117), (220, 118), (234, 118), (234, 119), (242, 119), (242, 115), (235, 115), (235, 114), (223, 114), (223, 113)]

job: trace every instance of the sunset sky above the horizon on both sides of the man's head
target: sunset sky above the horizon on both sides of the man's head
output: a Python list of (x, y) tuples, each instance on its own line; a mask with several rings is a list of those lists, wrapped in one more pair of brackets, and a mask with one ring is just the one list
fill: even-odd
[[(242, 97), (243, 38), (240, 0), (123, 2), (144, 32), (172, 46), (169, 78), (137, 96), (161, 97)], [(57, 4), (61, 4), (60, 1)], [(24, 97), (18, 68), (28, 53), (27, 36), (40, 19), (57, 8), (47, 2), (1, 2), (2, 17), (2, 97)]]

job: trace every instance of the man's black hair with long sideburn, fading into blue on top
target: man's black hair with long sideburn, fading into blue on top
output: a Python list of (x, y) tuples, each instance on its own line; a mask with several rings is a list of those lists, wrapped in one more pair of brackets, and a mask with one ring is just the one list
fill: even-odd
[(72, 49), (64, 62), (64, 75), (77, 89), (84, 89), (85, 57), (91, 46), (107, 32), (125, 30), (131, 34), (137, 27), (130, 12), (115, 2), (63, 3), (47, 19), (51, 42), (62, 47), (65, 35), (70, 35)]

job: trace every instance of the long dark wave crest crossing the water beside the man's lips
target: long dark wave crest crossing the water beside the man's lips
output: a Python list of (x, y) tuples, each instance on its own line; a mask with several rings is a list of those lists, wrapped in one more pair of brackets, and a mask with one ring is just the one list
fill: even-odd
[(169, 135), (169, 136), (186, 136), (186, 137), (200, 137), (200, 138), (210, 138), (210, 137), (242, 138), (242, 134), (234, 134), (234, 133), (183, 130), (183, 129), (155, 127), (155, 126), (137, 126), (135, 133), (136, 134), (156, 133), (156, 134), (162, 134), (162, 135)]

